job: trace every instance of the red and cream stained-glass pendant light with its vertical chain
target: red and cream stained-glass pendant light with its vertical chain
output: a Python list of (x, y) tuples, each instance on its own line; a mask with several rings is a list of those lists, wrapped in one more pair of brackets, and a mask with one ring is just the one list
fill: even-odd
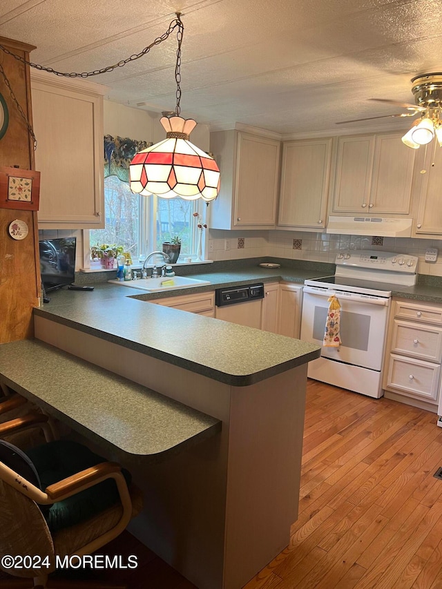
[(220, 191), (220, 170), (211, 155), (189, 141), (189, 135), (196, 122), (180, 117), (181, 44), (184, 32), (180, 13), (177, 13), (177, 21), (180, 26), (177, 32), (175, 66), (175, 113), (171, 113), (173, 116), (164, 116), (160, 119), (166, 131), (166, 139), (133, 157), (129, 166), (129, 186), (132, 192), (144, 196), (155, 194), (161, 198), (181, 197), (184, 200), (202, 198), (209, 202), (214, 200)]

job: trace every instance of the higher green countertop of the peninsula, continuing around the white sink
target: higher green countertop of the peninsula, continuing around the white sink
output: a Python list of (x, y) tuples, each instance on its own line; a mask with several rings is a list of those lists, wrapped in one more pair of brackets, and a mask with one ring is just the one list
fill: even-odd
[[(204, 287), (141, 293), (117, 284), (95, 284), (94, 291), (50, 293), (35, 315), (140, 351), (220, 382), (247, 386), (320, 356), (320, 347), (293, 338), (243, 327), (146, 301), (164, 296), (213, 291), (222, 286), (289, 280), (302, 282), (296, 269), (238, 269), (192, 275), (210, 280)], [(308, 271), (308, 276), (324, 276)]]

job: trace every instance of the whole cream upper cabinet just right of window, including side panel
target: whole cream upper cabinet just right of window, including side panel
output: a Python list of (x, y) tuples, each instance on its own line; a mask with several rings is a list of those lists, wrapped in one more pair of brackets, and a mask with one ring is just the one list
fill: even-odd
[(276, 223), (280, 142), (243, 131), (211, 133), (211, 152), (221, 171), (211, 203), (213, 229), (273, 229)]

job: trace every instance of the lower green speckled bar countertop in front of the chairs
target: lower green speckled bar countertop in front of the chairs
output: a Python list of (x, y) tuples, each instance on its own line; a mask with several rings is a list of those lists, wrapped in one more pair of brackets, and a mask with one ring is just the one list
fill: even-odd
[(155, 461), (221, 429), (218, 419), (39, 340), (0, 345), (0, 374), (119, 461)]

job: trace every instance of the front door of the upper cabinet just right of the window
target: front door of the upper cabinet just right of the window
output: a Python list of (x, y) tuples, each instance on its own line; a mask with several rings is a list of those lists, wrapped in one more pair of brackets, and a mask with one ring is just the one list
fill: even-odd
[(234, 226), (275, 225), (279, 153), (274, 139), (238, 133)]

